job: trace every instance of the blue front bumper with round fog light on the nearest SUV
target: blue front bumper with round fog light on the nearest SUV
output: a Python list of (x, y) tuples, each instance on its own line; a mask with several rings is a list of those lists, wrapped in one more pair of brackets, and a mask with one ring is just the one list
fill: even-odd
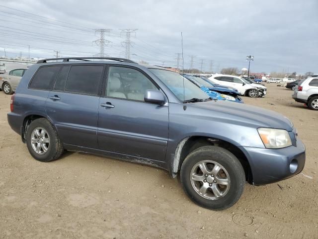
[(280, 149), (239, 147), (246, 155), (255, 185), (275, 183), (300, 173), (306, 160), (305, 145), (297, 139), (296, 146)]

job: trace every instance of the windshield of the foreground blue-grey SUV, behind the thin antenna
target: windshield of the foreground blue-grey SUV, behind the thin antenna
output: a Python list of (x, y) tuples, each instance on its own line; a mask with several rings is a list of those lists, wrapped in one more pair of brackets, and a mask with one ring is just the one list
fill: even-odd
[[(191, 100), (193, 98), (205, 100), (209, 98), (199, 87), (193, 84), (183, 76), (173, 71), (161, 70), (161, 69), (149, 69), (151, 70), (164, 85), (166, 85), (170, 91), (183, 102)], [(183, 79), (184, 79), (184, 97), (183, 97)]]

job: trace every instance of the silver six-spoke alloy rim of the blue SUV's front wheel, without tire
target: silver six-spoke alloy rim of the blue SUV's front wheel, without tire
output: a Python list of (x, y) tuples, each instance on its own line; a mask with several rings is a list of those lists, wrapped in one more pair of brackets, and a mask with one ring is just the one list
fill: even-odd
[(230, 176), (219, 163), (204, 160), (191, 170), (191, 185), (201, 197), (216, 200), (224, 197), (230, 189)]

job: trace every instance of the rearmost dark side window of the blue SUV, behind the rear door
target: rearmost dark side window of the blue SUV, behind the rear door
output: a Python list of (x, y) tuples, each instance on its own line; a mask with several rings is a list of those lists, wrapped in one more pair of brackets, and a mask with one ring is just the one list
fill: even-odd
[(53, 82), (61, 66), (40, 67), (31, 80), (30, 88), (38, 90), (51, 90)]

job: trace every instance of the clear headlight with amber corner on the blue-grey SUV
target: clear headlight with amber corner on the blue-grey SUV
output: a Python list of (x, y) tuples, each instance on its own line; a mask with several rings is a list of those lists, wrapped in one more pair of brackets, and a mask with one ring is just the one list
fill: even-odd
[(289, 133), (285, 129), (258, 128), (257, 131), (266, 148), (285, 148), (292, 145)]

